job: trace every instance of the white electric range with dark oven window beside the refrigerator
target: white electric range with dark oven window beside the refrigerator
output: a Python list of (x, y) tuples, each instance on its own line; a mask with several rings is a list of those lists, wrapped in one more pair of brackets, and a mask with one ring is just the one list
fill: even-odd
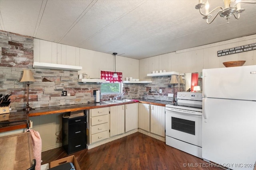
[(178, 92), (166, 105), (166, 145), (202, 158), (202, 93)]

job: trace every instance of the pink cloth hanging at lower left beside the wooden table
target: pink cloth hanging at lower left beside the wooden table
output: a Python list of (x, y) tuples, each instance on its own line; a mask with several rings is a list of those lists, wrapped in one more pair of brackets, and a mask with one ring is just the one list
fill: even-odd
[(28, 131), (30, 131), (33, 155), (36, 159), (36, 170), (41, 170), (42, 139), (39, 132), (34, 131), (33, 129), (29, 129), (27, 132)]

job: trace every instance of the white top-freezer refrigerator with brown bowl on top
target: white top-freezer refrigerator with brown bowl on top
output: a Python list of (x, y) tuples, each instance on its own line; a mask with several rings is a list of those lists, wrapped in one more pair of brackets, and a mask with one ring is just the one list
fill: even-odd
[(254, 169), (256, 65), (203, 69), (202, 158)]

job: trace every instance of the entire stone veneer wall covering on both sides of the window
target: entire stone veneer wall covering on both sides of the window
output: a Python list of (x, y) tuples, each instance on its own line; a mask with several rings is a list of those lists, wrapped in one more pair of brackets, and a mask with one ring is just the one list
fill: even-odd
[[(36, 79), (36, 82), (30, 82), (29, 104), (32, 108), (95, 102), (93, 90), (100, 90), (101, 84), (78, 83), (77, 71), (32, 68), (32, 65), (33, 37), (0, 31), (0, 94), (12, 94), (10, 106), (13, 109), (26, 106), (27, 85), (20, 82), (24, 69), (32, 70)], [(51, 82), (43, 82), (44, 78)], [(173, 93), (170, 78), (152, 77), (152, 84), (124, 84), (123, 92), (126, 93), (123, 97), (172, 101), (167, 97), (168, 93)], [(163, 92), (148, 94), (150, 88)], [(62, 90), (67, 90), (71, 96), (61, 96)], [(177, 84), (175, 93), (178, 90)], [(102, 101), (118, 95), (102, 95)]]

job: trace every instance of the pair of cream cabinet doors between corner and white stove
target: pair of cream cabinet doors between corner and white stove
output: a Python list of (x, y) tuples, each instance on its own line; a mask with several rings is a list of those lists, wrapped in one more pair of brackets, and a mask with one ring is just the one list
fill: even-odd
[(139, 103), (138, 127), (165, 136), (165, 107)]

